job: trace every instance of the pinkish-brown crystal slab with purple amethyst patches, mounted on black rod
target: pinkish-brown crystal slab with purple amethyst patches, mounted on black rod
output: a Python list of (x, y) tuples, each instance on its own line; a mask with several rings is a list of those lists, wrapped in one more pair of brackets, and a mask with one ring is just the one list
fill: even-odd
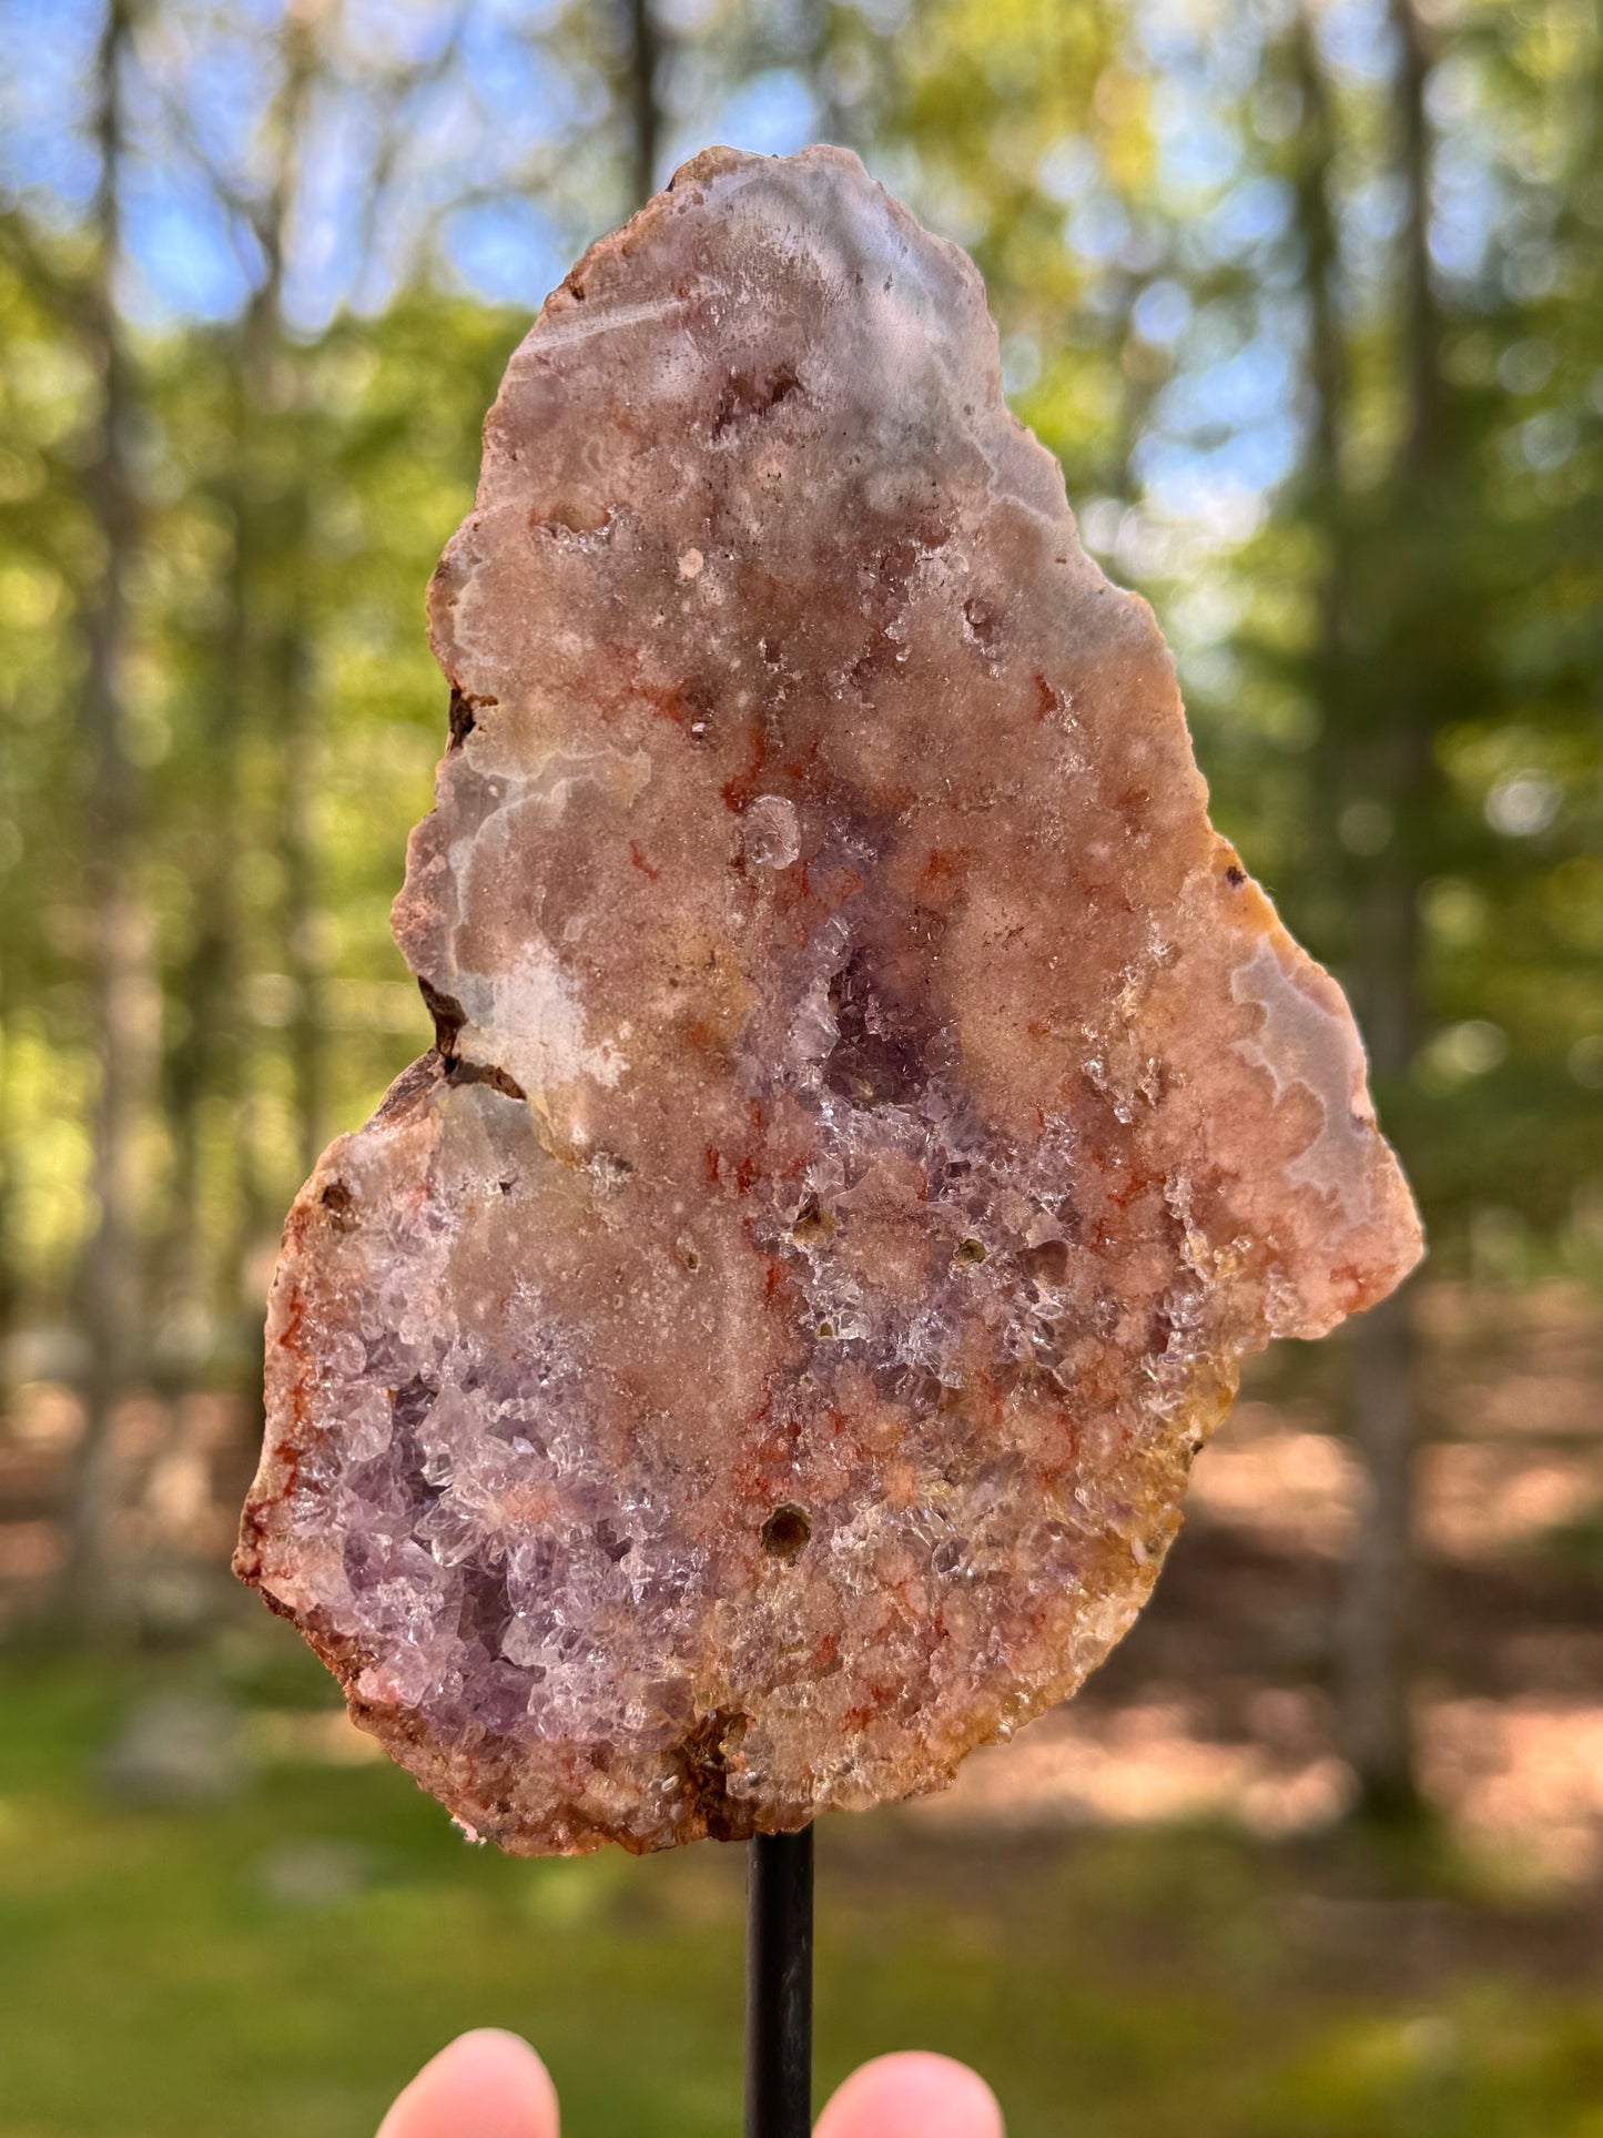
[(436, 1045), (291, 1212), (239, 1571), (507, 1849), (938, 1787), (1131, 1625), (1242, 1353), (1417, 1259), (1347, 1005), (838, 150), (556, 291), (432, 639)]

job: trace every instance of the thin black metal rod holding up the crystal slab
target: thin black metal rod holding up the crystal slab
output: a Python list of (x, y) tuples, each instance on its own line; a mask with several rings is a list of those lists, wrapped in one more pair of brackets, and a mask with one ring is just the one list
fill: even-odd
[(754, 1834), (746, 1871), (746, 2138), (812, 2129), (812, 1828)]

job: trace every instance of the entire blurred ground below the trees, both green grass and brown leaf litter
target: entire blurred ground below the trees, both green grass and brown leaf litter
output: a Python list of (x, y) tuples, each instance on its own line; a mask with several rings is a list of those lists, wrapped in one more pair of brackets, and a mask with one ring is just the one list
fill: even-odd
[[(821, 1830), (821, 2085), (923, 2044), (985, 2070), (1013, 2138), (1603, 2138), (1597, 1304), (1421, 1311), (1436, 1826), (1338, 1822), (1323, 1683), (1357, 1490), (1321, 1430), (1329, 1351), (1280, 1347), (1081, 1698), (947, 1796)], [(62, 1405), (32, 1388), (0, 1437), (17, 1612), (56, 1548)], [(224, 1411), (135, 1409), (126, 1454), (147, 1537), (192, 1539), (169, 1638), (0, 1651), (0, 2138), (368, 2138), (485, 2023), (541, 2044), (573, 2138), (733, 2134), (740, 1852), (466, 1847), (293, 1633), (212, 1586)]]

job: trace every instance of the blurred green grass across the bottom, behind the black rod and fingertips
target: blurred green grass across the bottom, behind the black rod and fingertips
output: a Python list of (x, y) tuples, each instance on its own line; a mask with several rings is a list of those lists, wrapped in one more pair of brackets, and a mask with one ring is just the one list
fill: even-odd
[[(740, 1852), (507, 1862), (387, 1766), (284, 1757), (120, 1807), (120, 1713), (201, 1670), (323, 1698), (278, 1640), (0, 1663), (0, 2138), (370, 2138), (472, 2025), (541, 2046), (571, 2138), (733, 2138)], [(819, 1899), (821, 2085), (917, 2044), (977, 2063), (1015, 2138), (1603, 2138), (1582, 1918), (1558, 1967), (1441, 1864), (876, 1813), (825, 1826)]]

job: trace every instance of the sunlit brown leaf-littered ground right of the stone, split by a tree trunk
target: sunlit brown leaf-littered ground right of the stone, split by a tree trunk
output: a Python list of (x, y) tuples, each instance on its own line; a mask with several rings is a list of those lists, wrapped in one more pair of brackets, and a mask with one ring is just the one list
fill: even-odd
[[(1456, 1845), (1511, 1890), (1603, 1877), (1603, 1311), (1579, 1287), (1421, 1293), (1417, 1725)], [(1235, 1819), (1347, 1809), (1325, 1691), (1357, 1465), (1334, 1347), (1255, 1362), (1197, 1460), (1152, 1606), (1075, 1702), (977, 1753), (936, 1817)]]

